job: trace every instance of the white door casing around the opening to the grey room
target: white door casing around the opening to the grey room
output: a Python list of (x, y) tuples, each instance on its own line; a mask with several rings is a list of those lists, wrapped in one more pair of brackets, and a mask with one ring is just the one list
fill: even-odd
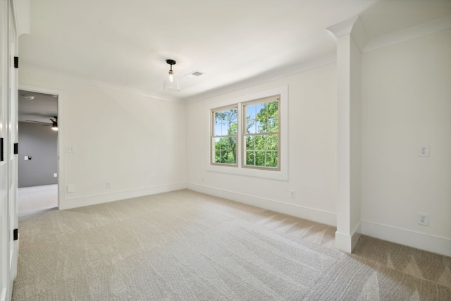
[[(20, 67), (20, 66), (19, 66)], [(20, 72), (20, 69), (19, 69)], [(47, 87), (37, 87), (32, 85), (25, 85), (19, 82), (19, 90), (25, 90), (30, 92), (37, 92), (43, 94), (57, 95), (58, 102), (58, 141), (57, 154), (58, 154), (58, 209), (61, 209), (61, 200), (64, 199), (64, 91), (49, 89)], [(61, 117), (60, 117), (61, 116)]]

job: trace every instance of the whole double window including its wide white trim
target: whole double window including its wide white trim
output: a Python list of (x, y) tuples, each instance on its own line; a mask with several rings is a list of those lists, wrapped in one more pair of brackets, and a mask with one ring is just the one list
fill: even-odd
[(288, 86), (209, 106), (207, 171), (288, 180)]

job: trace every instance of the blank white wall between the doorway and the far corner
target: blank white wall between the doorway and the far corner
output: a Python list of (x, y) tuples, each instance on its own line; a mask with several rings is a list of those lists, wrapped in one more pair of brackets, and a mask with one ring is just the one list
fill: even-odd
[(60, 185), (75, 192), (60, 208), (185, 188), (185, 104), (25, 72), (20, 85), (64, 93), (59, 137), (75, 153), (60, 152)]

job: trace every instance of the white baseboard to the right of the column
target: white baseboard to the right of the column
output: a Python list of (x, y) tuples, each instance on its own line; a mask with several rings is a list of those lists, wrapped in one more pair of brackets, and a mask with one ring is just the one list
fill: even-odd
[(447, 238), (384, 226), (370, 221), (362, 221), (362, 234), (451, 257), (451, 240)]

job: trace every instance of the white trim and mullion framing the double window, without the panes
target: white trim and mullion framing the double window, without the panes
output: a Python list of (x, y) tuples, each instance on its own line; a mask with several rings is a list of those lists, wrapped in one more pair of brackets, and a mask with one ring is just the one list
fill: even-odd
[[(206, 164), (206, 171), (211, 171), (214, 173), (230, 173), (254, 178), (268, 178), (271, 180), (288, 180), (288, 85), (210, 104), (208, 108), (208, 114), (210, 116), (209, 128), (211, 129), (211, 123), (213, 122), (211, 121), (211, 110), (221, 108), (223, 106), (238, 104), (238, 118), (241, 118), (240, 120), (242, 120), (242, 103), (253, 101), (255, 99), (263, 99), (274, 95), (280, 95), (280, 171), (244, 168), (242, 167), (242, 154), (238, 155), (237, 166), (218, 166), (216, 164), (211, 164), (211, 156), (207, 156), (206, 160), (208, 161)], [(241, 152), (241, 132), (241, 130), (238, 130), (237, 152)], [(210, 139), (211, 133), (209, 133), (207, 140), (209, 154), (211, 152)]]

